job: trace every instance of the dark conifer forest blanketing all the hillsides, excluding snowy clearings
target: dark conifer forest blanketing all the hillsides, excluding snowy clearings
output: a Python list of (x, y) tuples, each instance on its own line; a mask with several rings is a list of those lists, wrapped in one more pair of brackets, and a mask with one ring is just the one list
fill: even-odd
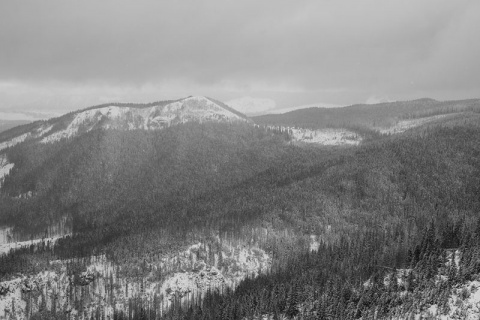
[[(272, 257), (268, 272), (169, 308), (132, 296), (114, 318), (390, 319), (446, 309), (447, 293), (480, 272), (480, 127), (457, 120), (359, 147), (296, 145), (288, 132), (232, 123), (27, 141), (6, 150), (15, 167), (2, 185), (1, 224), (41, 234), (65, 217), (72, 233), (0, 256), (0, 278), (65, 261), (69, 301), (81, 303), (90, 283), (100, 285), (82, 272), (105, 256), (115, 271), (101, 285), (114, 305), (120, 278), (194, 269), (154, 268), (191, 243), (203, 243), (197, 254), (219, 270), (228, 269), (224, 246), (248, 243)], [(30, 317), (69, 314), (45, 304)]]

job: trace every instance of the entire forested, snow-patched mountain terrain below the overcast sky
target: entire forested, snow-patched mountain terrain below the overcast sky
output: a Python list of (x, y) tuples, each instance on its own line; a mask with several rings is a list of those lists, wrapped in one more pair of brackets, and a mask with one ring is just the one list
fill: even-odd
[(461, 317), (480, 273), (477, 106), (359, 105), (335, 126), (189, 97), (3, 132), (0, 318)]

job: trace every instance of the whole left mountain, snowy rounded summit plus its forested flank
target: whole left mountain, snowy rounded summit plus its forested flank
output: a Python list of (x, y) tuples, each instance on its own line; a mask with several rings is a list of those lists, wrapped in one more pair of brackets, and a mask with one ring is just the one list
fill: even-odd
[[(40, 223), (42, 217), (28, 217), (38, 210), (32, 205), (47, 206), (57, 218), (57, 211), (89, 215), (90, 220), (82, 221), (90, 226), (97, 218), (113, 219), (113, 214), (108, 219), (96, 214), (100, 209), (113, 210), (111, 206), (127, 201), (131, 207), (141, 199), (145, 205), (188, 198), (264, 168), (268, 153), (248, 167), (241, 163), (248, 156), (242, 151), (253, 152), (249, 148), (261, 148), (262, 139), (271, 140), (265, 133), (247, 139), (255, 131), (261, 130), (240, 113), (203, 97), (96, 106), (0, 135), (0, 141), (8, 139), (0, 144), (1, 190), (10, 198), (34, 195), (21, 213), (12, 213), (14, 225)], [(258, 146), (251, 146), (253, 142)], [(51, 199), (52, 193), (57, 200)], [(3, 217), (18, 205), (4, 208)], [(116, 215), (120, 212), (115, 210)]]

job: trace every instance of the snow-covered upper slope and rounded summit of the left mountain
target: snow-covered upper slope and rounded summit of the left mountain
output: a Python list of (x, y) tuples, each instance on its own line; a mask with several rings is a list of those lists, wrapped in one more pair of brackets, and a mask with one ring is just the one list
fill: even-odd
[(0, 135), (0, 151), (29, 138), (50, 143), (99, 128), (158, 130), (186, 122), (232, 121), (248, 120), (241, 113), (206, 97), (188, 97), (167, 104), (148, 104), (145, 107), (108, 105), (37, 122), (13, 136), (6, 132)]

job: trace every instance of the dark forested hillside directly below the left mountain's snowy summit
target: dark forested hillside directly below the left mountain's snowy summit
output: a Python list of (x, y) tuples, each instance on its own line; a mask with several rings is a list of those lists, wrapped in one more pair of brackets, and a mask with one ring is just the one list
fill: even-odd
[[(135, 219), (154, 212), (160, 218), (158, 211), (172, 203), (266, 170), (286, 149), (282, 136), (253, 126), (196, 123), (19, 144), (7, 151), (15, 167), (2, 186), (2, 218), (27, 228), (68, 215), (76, 219), (76, 230), (128, 218), (136, 210)], [(28, 192), (31, 198), (18, 199)], [(49, 220), (39, 211), (50, 212)]]

